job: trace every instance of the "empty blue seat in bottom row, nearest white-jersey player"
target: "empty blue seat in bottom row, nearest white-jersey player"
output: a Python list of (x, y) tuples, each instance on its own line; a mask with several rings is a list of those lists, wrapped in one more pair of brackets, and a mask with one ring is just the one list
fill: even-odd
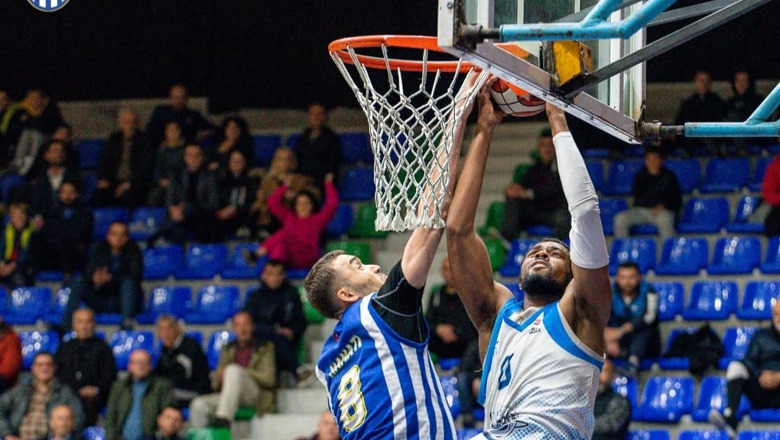
[(642, 390), (634, 420), (677, 423), (693, 409), (693, 378), (651, 377)]

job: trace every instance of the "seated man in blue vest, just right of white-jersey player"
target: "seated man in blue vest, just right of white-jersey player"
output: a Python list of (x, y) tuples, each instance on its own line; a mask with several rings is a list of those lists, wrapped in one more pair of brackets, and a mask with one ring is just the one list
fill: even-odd
[(633, 261), (620, 264), (612, 285), (612, 312), (604, 328), (607, 356), (628, 359), (625, 375), (635, 377), (639, 361), (658, 356), (658, 293), (642, 279)]

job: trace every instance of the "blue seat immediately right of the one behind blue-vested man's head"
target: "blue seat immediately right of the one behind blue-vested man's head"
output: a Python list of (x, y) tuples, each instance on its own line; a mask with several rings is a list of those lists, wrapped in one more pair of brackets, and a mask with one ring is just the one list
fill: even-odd
[(707, 267), (709, 245), (704, 238), (670, 237), (664, 241), (658, 275), (697, 275)]

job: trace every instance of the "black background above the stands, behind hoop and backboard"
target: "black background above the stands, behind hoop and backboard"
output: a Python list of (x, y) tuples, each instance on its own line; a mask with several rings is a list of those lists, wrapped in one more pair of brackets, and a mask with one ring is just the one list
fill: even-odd
[[(686, 6), (697, 1), (678, 1)], [(436, 34), (436, 0), (70, 0), (42, 13), (0, 0), (0, 88), (43, 86), (58, 100), (164, 96), (175, 82), (212, 111), (355, 106), (327, 53), (337, 38)], [(649, 81), (716, 80), (746, 68), (780, 77), (774, 0), (648, 63)], [(681, 24), (651, 28), (649, 40)]]

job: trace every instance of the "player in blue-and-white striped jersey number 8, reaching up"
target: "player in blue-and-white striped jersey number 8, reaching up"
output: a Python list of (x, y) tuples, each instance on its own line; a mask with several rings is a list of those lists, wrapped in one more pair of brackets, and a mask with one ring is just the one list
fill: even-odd
[[(476, 76), (465, 81), (467, 89), (482, 82)], [(489, 99), (487, 90), (480, 90), (480, 101)], [(470, 110), (457, 121), (450, 156), (440, 158), (450, 161), (453, 173)], [(446, 191), (451, 190), (452, 184)], [(446, 211), (445, 205), (445, 218)], [(415, 229), (387, 275), (375, 264), (333, 251), (306, 277), (309, 302), (339, 320), (323, 347), (317, 376), (345, 440), (457, 438), (428, 353), (422, 312), (423, 288), (443, 232)]]

